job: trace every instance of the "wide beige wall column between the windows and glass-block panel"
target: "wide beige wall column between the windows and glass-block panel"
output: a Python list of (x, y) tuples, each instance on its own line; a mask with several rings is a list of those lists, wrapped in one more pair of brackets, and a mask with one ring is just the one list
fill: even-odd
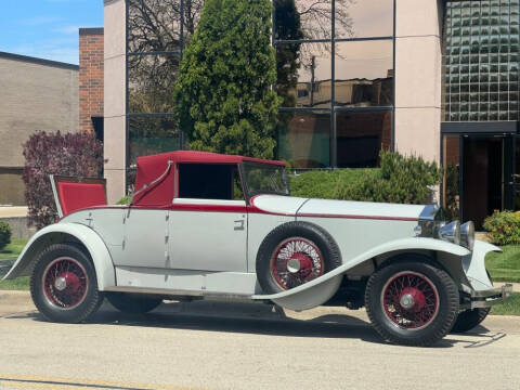
[(395, 146), (440, 162), (441, 0), (398, 0)]

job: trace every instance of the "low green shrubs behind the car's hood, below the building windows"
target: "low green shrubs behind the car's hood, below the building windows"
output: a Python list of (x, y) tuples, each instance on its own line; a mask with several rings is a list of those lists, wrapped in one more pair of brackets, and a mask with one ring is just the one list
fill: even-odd
[(434, 162), (382, 151), (379, 169), (312, 171), (291, 179), (291, 194), (327, 199), (426, 204), (442, 179)]

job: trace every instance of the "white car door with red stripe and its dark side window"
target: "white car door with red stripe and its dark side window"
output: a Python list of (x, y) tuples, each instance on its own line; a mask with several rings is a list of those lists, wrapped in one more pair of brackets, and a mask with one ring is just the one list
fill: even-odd
[(168, 225), (172, 269), (247, 271), (247, 209), (236, 166), (180, 165)]

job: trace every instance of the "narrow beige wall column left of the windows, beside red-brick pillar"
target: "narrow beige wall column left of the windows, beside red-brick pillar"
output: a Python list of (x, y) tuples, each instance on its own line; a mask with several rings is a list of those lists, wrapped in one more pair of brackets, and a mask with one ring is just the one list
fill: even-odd
[(108, 203), (125, 195), (126, 176), (126, 6), (125, 0), (105, 0), (105, 178)]

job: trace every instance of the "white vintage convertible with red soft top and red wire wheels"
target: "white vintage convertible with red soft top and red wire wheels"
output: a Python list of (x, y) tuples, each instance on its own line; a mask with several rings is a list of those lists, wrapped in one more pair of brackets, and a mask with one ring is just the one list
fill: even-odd
[(365, 307), (391, 342), (429, 346), (465, 332), (510, 295), (494, 288), (473, 224), (437, 206), (290, 197), (285, 164), (204, 152), (138, 159), (127, 206), (103, 181), (52, 178), (57, 223), (5, 278), (30, 275), (50, 321), (90, 317), (106, 297), (127, 312), (164, 299), (225, 298), (290, 310)]

